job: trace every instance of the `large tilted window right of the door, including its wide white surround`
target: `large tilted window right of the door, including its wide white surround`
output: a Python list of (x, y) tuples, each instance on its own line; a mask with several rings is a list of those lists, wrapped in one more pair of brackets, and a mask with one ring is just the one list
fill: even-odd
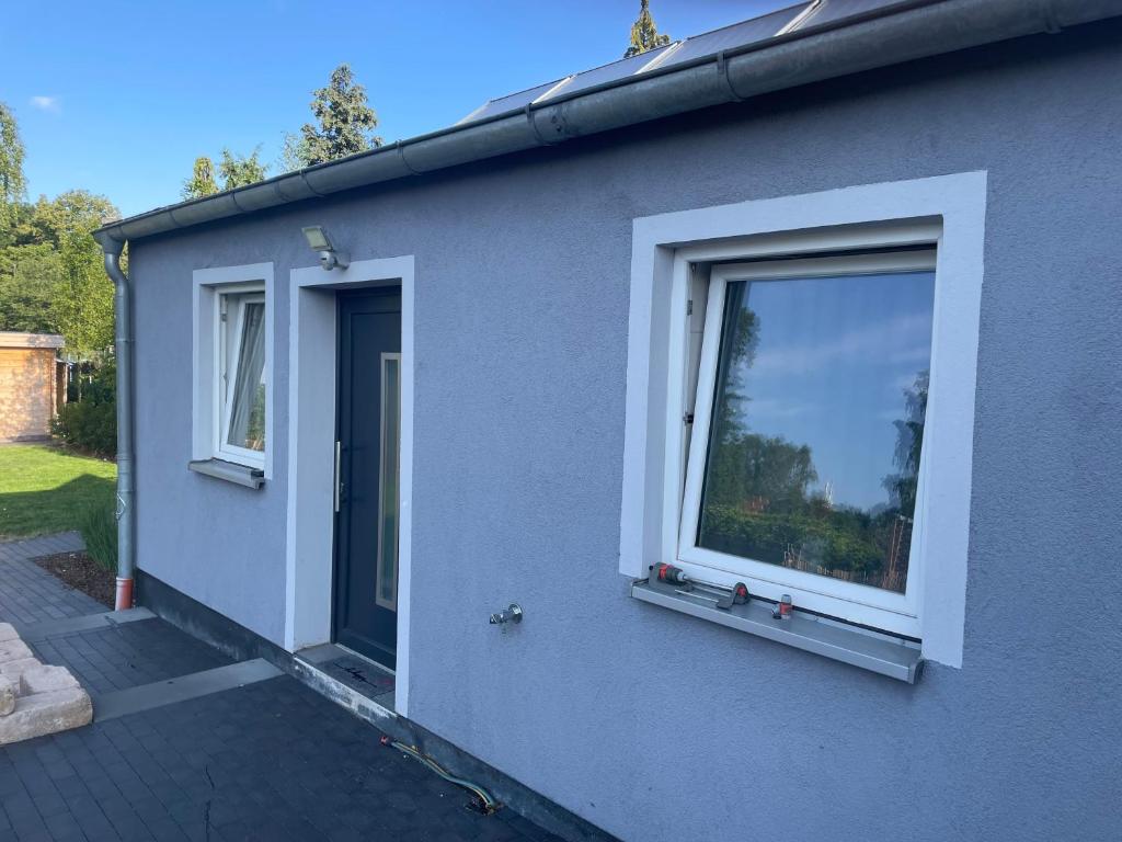
[(635, 220), (620, 566), (960, 666), (985, 175)]

